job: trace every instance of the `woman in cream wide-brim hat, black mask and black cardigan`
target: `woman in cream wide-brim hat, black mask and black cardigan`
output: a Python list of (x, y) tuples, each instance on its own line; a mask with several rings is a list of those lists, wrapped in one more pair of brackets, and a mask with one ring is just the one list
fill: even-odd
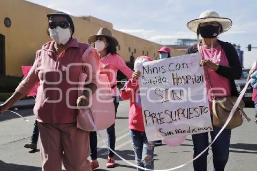
[[(217, 39), (220, 33), (228, 31), (232, 26), (232, 21), (229, 18), (222, 18), (215, 11), (204, 11), (200, 18), (192, 20), (187, 23), (187, 27), (199, 34), (202, 40), (197, 44), (189, 47), (186, 54), (196, 53), (198, 49), (201, 51), (203, 60), (200, 65), (207, 69), (210, 75), (213, 88), (213, 93), (223, 93), (224, 96), (238, 96), (234, 79), (239, 79), (242, 74), (242, 67), (239, 62), (238, 54), (232, 44), (223, 42)], [(210, 98), (210, 85), (205, 75), (207, 94)], [(220, 91), (223, 89), (224, 91)], [(219, 96), (219, 97), (224, 97)], [(212, 102), (209, 100), (210, 112), (212, 115)], [(211, 139), (217, 135), (220, 128), (213, 126), (213, 131), (210, 132)], [(217, 140), (212, 145), (213, 152), (213, 170), (223, 171), (229, 157), (229, 143), (231, 130), (225, 129)], [(208, 133), (192, 135), (194, 143), (194, 157), (201, 153), (208, 145)], [(207, 170), (207, 155), (206, 151), (198, 159), (194, 160), (194, 170)]]

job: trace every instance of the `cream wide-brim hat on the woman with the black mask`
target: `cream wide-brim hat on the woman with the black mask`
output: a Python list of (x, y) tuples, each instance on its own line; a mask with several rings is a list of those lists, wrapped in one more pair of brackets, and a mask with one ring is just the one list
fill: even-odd
[(197, 32), (197, 28), (198, 25), (200, 23), (204, 23), (204, 22), (212, 22), (212, 21), (216, 21), (218, 23), (221, 24), (223, 31), (222, 32), (226, 32), (228, 31), (231, 26), (232, 26), (232, 21), (229, 18), (223, 18), (220, 17), (220, 15), (215, 12), (215, 11), (204, 11), (199, 18), (194, 19), (192, 21), (189, 21), (187, 23), (187, 27), (191, 30), (194, 31), (195, 33)]

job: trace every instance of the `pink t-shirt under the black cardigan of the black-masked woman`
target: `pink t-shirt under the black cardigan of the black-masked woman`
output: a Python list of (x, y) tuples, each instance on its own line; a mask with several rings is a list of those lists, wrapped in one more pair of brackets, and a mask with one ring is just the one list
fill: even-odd
[[(216, 64), (229, 66), (229, 61), (226, 57), (224, 50), (220, 45), (215, 47), (213, 50), (205, 48), (203, 44), (201, 44), (200, 48), (204, 59), (211, 60), (213, 63), (216, 63)], [(213, 93), (215, 95), (215, 98), (231, 96), (231, 85), (230, 85), (229, 79), (216, 73), (212, 69), (207, 68), (207, 71), (210, 75), (210, 80), (213, 86)], [(210, 105), (210, 113), (212, 115), (212, 100), (211, 100), (211, 93), (210, 93), (210, 84), (206, 74), (205, 74), (205, 80), (206, 80), (206, 88), (208, 92), (207, 94), (208, 94), (209, 105)]]

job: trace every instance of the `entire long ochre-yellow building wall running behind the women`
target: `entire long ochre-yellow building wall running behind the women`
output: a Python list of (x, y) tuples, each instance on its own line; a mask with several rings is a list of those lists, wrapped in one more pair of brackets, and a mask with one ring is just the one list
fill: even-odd
[[(34, 61), (35, 52), (43, 44), (50, 41), (47, 35), (46, 14), (54, 10), (23, 0), (0, 0), (0, 34), (5, 36), (5, 68), (6, 75), (21, 76), (21, 66), (31, 65)], [(4, 19), (11, 19), (11, 27), (4, 25)], [(88, 37), (96, 34), (100, 27), (108, 27), (112, 35), (117, 38), (120, 50), (117, 52), (125, 61), (133, 56), (145, 55), (153, 59), (157, 57), (157, 50), (162, 45), (144, 40), (129, 34), (112, 29), (112, 23), (99, 20), (91, 16), (72, 17), (75, 25), (74, 37), (81, 42), (88, 43)], [(129, 52), (129, 47), (131, 52)], [(171, 56), (177, 56), (179, 52), (171, 50)]]

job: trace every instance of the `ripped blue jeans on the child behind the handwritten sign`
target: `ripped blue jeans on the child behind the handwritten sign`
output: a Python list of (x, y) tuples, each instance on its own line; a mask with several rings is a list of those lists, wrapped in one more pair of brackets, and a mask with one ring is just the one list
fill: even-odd
[[(132, 148), (135, 152), (136, 165), (146, 169), (154, 169), (154, 148), (155, 142), (147, 140), (145, 132), (130, 130)], [(138, 169), (142, 171), (142, 169)]]

